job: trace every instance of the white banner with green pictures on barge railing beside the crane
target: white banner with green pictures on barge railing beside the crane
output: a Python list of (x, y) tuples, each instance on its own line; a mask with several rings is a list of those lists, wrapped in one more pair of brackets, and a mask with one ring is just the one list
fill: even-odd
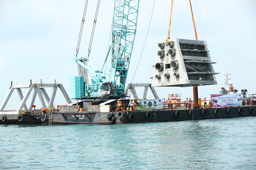
[(138, 110), (157, 110), (163, 108), (163, 100), (162, 99), (145, 99), (145, 100), (137, 100)]

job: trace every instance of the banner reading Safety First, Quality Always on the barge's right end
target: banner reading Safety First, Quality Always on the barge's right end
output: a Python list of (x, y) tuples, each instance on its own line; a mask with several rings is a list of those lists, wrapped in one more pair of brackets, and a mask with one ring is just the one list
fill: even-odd
[(242, 105), (242, 94), (212, 94), (211, 105), (212, 107)]

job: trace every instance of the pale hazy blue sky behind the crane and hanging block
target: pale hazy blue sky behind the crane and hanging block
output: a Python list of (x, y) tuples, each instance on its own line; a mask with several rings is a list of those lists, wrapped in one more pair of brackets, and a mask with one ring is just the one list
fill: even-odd
[[(130, 83), (145, 42), (154, 0), (140, 0), (137, 32), (127, 82)], [(207, 41), (217, 85), (198, 86), (198, 97), (218, 94), (224, 87), (224, 73), (239, 91), (256, 93), (255, 23), (256, 1), (191, 0), (198, 40)], [(97, 1), (89, 0), (78, 57), (87, 56)], [(0, 104), (13, 84), (62, 83), (69, 93), (69, 77), (78, 76), (76, 54), (85, 0), (0, 0)], [(157, 42), (167, 37), (171, 0), (156, 0), (149, 35), (132, 83), (151, 83)], [(90, 61), (102, 67), (107, 54), (114, 1), (101, 0)], [(195, 40), (188, 0), (174, 0), (170, 38)], [(192, 87), (156, 87), (159, 98), (181, 94), (193, 98)], [(52, 89), (48, 89), (50, 95)], [(137, 94), (142, 97), (143, 89)], [(24, 91), (25, 93), (25, 91)], [(66, 104), (60, 90), (55, 105)], [(37, 97), (38, 98), (38, 97)], [(147, 98), (153, 98), (149, 93)], [(30, 100), (30, 99), (29, 99)], [(6, 109), (17, 109), (16, 90)], [(37, 108), (41, 104), (36, 100)]]

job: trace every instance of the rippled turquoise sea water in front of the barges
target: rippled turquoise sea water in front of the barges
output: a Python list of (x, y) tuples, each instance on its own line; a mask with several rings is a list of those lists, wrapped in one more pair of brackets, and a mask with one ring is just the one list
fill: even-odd
[(256, 117), (0, 125), (0, 169), (256, 169)]

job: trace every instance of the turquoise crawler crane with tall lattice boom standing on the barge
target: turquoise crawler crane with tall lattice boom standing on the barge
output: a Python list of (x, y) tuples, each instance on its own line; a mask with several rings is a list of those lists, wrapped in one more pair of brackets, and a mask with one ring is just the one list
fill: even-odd
[[(127, 73), (136, 34), (139, 0), (115, 0), (111, 29), (111, 45), (102, 68), (98, 68), (87, 58), (74, 57), (73, 60), (89, 71), (92, 84), (84, 83), (76, 88), (80, 99), (119, 99), (124, 94)], [(111, 51), (110, 74), (103, 71)]]

